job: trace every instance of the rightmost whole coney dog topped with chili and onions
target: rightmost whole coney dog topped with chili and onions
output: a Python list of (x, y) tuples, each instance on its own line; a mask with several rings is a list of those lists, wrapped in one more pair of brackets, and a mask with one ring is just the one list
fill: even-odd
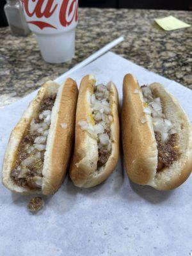
[(158, 190), (177, 188), (192, 169), (191, 125), (177, 100), (159, 83), (123, 84), (122, 143), (129, 178)]

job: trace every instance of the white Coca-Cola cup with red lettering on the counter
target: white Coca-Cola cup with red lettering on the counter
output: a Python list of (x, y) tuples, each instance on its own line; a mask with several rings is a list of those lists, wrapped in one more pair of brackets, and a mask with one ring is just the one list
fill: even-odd
[(44, 60), (71, 60), (75, 54), (78, 0), (20, 1)]

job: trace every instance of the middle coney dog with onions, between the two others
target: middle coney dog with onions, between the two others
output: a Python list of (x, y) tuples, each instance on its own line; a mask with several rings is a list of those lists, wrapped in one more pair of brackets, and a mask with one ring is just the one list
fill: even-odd
[(70, 178), (82, 188), (106, 180), (118, 161), (118, 92), (115, 84), (83, 77), (76, 111), (76, 139)]

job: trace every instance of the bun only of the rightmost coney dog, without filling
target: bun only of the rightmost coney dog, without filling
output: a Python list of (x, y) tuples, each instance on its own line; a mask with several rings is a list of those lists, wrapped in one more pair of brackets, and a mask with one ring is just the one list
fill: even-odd
[[(137, 184), (159, 190), (177, 188), (188, 179), (192, 170), (191, 125), (177, 100), (161, 84), (150, 84), (150, 90), (160, 97), (163, 113), (179, 135), (180, 157), (171, 166), (157, 172), (158, 151), (152, 120), (144, 113), (143, 93), (138, 82), (127, 74), (124, 77), (122, 106), (122, 143), (127, 175)], [(141, 122), (143, 117), (147, 122)]]

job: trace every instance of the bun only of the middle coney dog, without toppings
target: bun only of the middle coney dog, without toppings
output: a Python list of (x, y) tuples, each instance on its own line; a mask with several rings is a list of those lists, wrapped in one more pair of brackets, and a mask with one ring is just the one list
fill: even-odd
[(70, 178), (78, 187), (90, 188), (106, 180), (113, 172), (118, 161), (119, 150), (119, 121), (118, 121), (118, 92), (115, 84), (111, 83), (110, 106), (113, 115), (111, 123), (112, 150), (109, 159), (104, 166), (97, 168), (98, 146), (97, 139), (90, 136), (87, 131), (81, 129), (79, 122), (92, 122), (91, 97), (94, 92), (95, 78), (90, 75), (82, 79), (79, 88), (76, 112), (76, 142), (74, 156), (70, 166)]

